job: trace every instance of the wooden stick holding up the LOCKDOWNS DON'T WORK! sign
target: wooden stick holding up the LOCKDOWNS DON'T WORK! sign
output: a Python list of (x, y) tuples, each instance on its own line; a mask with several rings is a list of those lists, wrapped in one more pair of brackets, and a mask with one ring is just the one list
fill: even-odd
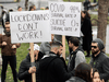
[[(35, 58), (34, 58), (34, 43), (31, 43), (31, 62), (34, 62), (35, 61)], [(33, 82), (36, 82), (36, 74), (33, 73), (32, 74), (32, 81)]]

